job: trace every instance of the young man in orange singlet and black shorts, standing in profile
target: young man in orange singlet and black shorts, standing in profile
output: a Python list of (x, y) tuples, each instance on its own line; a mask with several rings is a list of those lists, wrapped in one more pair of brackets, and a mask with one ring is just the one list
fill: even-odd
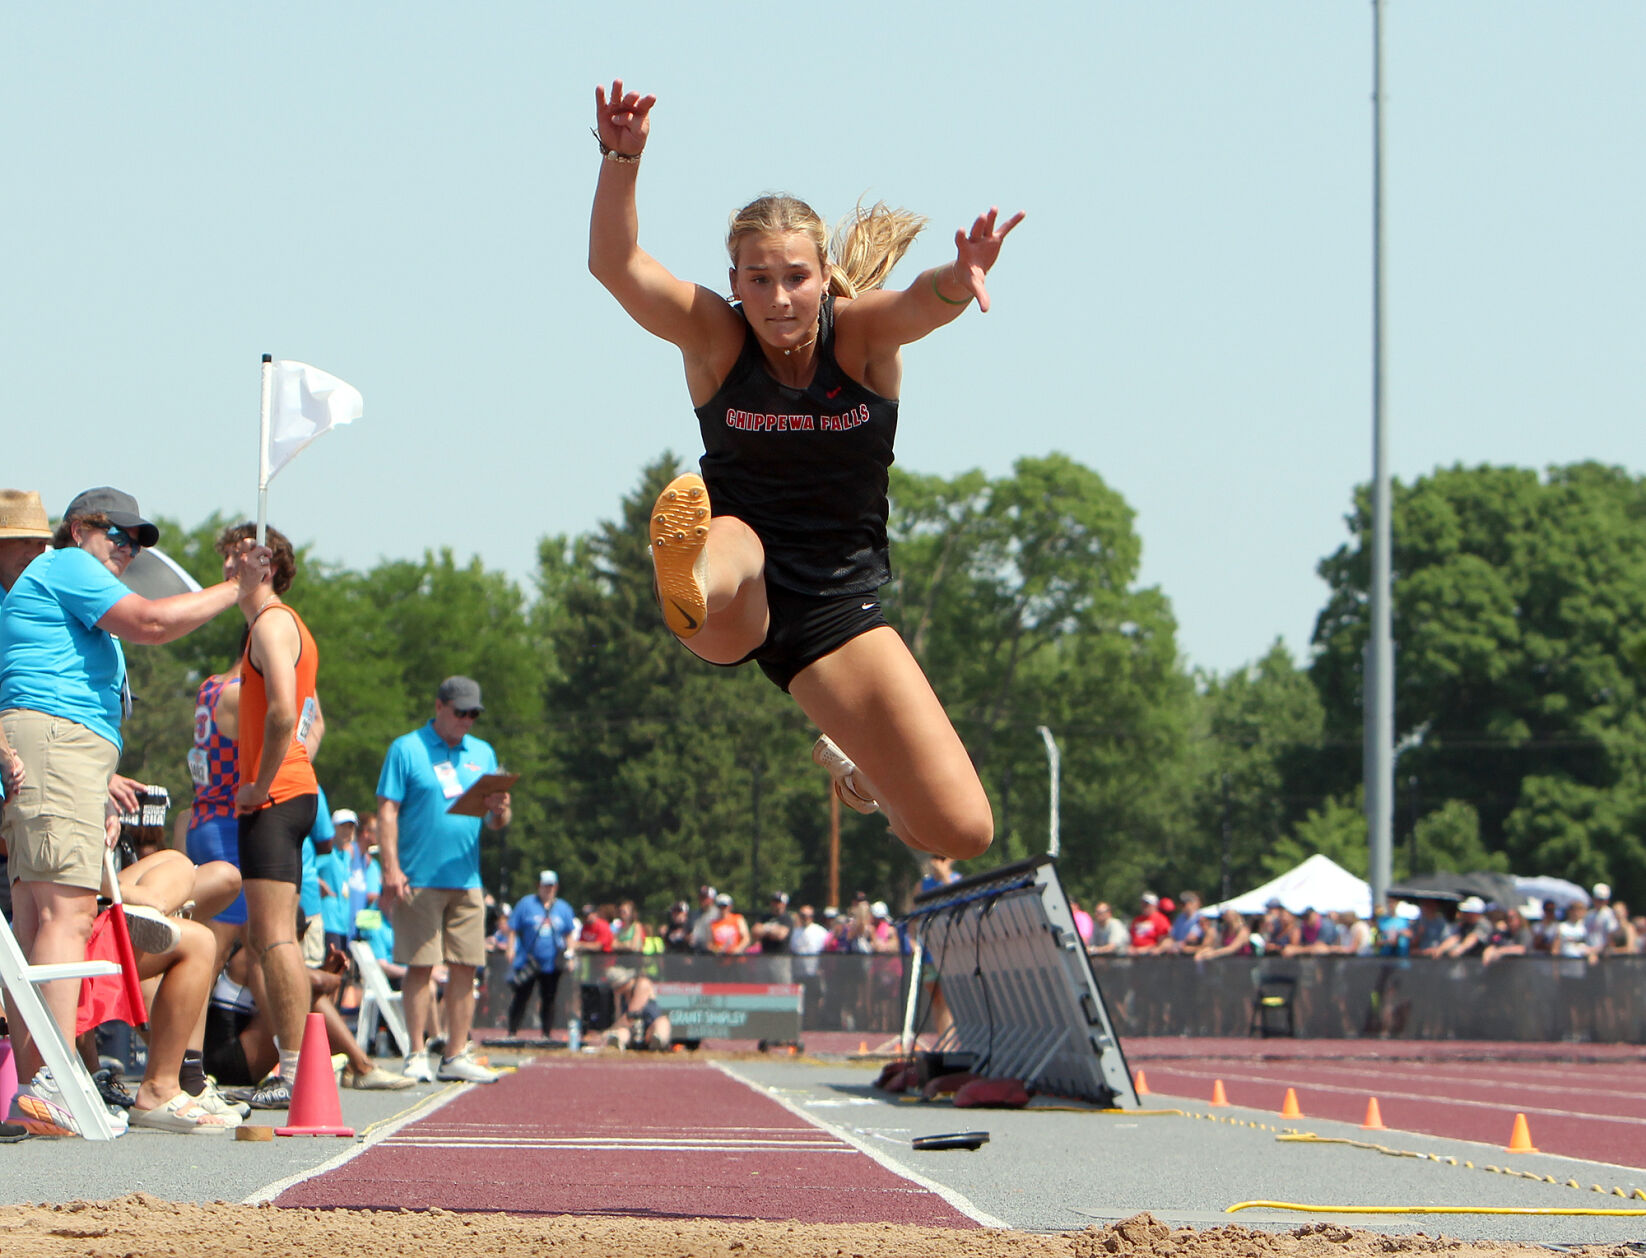
[[(235, 525), (224, 530), (217, 548), (253, 535), (250, 524)], [(319, 718), (314, 697), (319, 650), (303, 619), (281, 601), (296, 575), (291, 542), (277, 529), (267, 537), (273, 550), (268, 570), (239, 599), (250, 634), (240, 659), (240, 787), (234, 808), (240, 823), (247, 935), (252, 958), (263, 970), (280, 1046), (280, 1077), (260, 1087), (250, 1103), (277, 1110), (291, 1103), (309, 1011), (296, 920), (303, 836), (313, 828), (319, 804), (319, 782), (305, 741)]]

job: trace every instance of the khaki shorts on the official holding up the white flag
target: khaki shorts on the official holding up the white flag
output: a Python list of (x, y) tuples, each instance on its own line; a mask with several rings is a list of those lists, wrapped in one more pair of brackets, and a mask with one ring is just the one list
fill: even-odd
[(5, 805), (7, 878), (97, 891), (119, 749), (84, 725), (43, 711), (7, 708), (0, 723), (26, 774)]

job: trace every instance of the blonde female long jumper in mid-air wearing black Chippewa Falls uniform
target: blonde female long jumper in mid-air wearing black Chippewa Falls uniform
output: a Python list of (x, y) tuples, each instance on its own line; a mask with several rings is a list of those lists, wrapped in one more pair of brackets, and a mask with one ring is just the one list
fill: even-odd
[[(1021, 221), (955, 232), (955, 260), (881, 288), (925, 219), (876, 206), (830, 249), (816, 212), (762, 196), (732, 216), (736, 305), (675, 278), (639, 244), (635, 178), (653, 96), (594, 89), (601, 175), (589, 270), (685, 359), (703, 474), (652, 510), (663, 621), (698, 657), (754, 660), (823, 731), (813, 748), (858, 812), (909, 846), (968, 860), (994, 818), (976, 769), (909, 647), (881, 614), (887, 468), (902, 346), (953, 323)], [(713, 507), (711, 507), (713, 502)]]

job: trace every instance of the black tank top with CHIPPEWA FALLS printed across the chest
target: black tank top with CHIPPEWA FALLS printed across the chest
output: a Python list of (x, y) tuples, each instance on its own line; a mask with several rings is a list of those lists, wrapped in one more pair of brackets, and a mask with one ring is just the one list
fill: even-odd
[(765, 369), (749, 328), (719, 390), (696, 408), (703, 481), (716, 515), (765, 547), (765, 580), (805, 594), (864, 594), (892, 578), (887, 469), (897, 402), (835, 361), (835, 298), (823, 298), (818, 367), (790, 389)]

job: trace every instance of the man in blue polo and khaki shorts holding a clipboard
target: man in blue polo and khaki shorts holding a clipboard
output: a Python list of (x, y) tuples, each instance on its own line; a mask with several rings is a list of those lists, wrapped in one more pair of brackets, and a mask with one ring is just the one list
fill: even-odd
[[(497, 754), (469, 731), (481, 711), (481, 685), (448, 677), (435, 695), (435, 720), (388, 746), (377, 779), (377, 843), (384, 863), (382, 906), (395, 927), (395, 962), (407, 967), (400, 986), (412, 1052), (412, 1079), (492, 1083), (494, 1070), (469, 1046), (474, 1026), (474, 971), (486, 965), (486, 897), (481, 891), (479, 817), (448, 808), (474, 782), (497, 771)], [(486, 799), (486, 828), (502, 830), (512, 817), (509, 792)], [(446, 1055), (431, 1070), (423, 1049), (436, 965), (446, 981)]]

